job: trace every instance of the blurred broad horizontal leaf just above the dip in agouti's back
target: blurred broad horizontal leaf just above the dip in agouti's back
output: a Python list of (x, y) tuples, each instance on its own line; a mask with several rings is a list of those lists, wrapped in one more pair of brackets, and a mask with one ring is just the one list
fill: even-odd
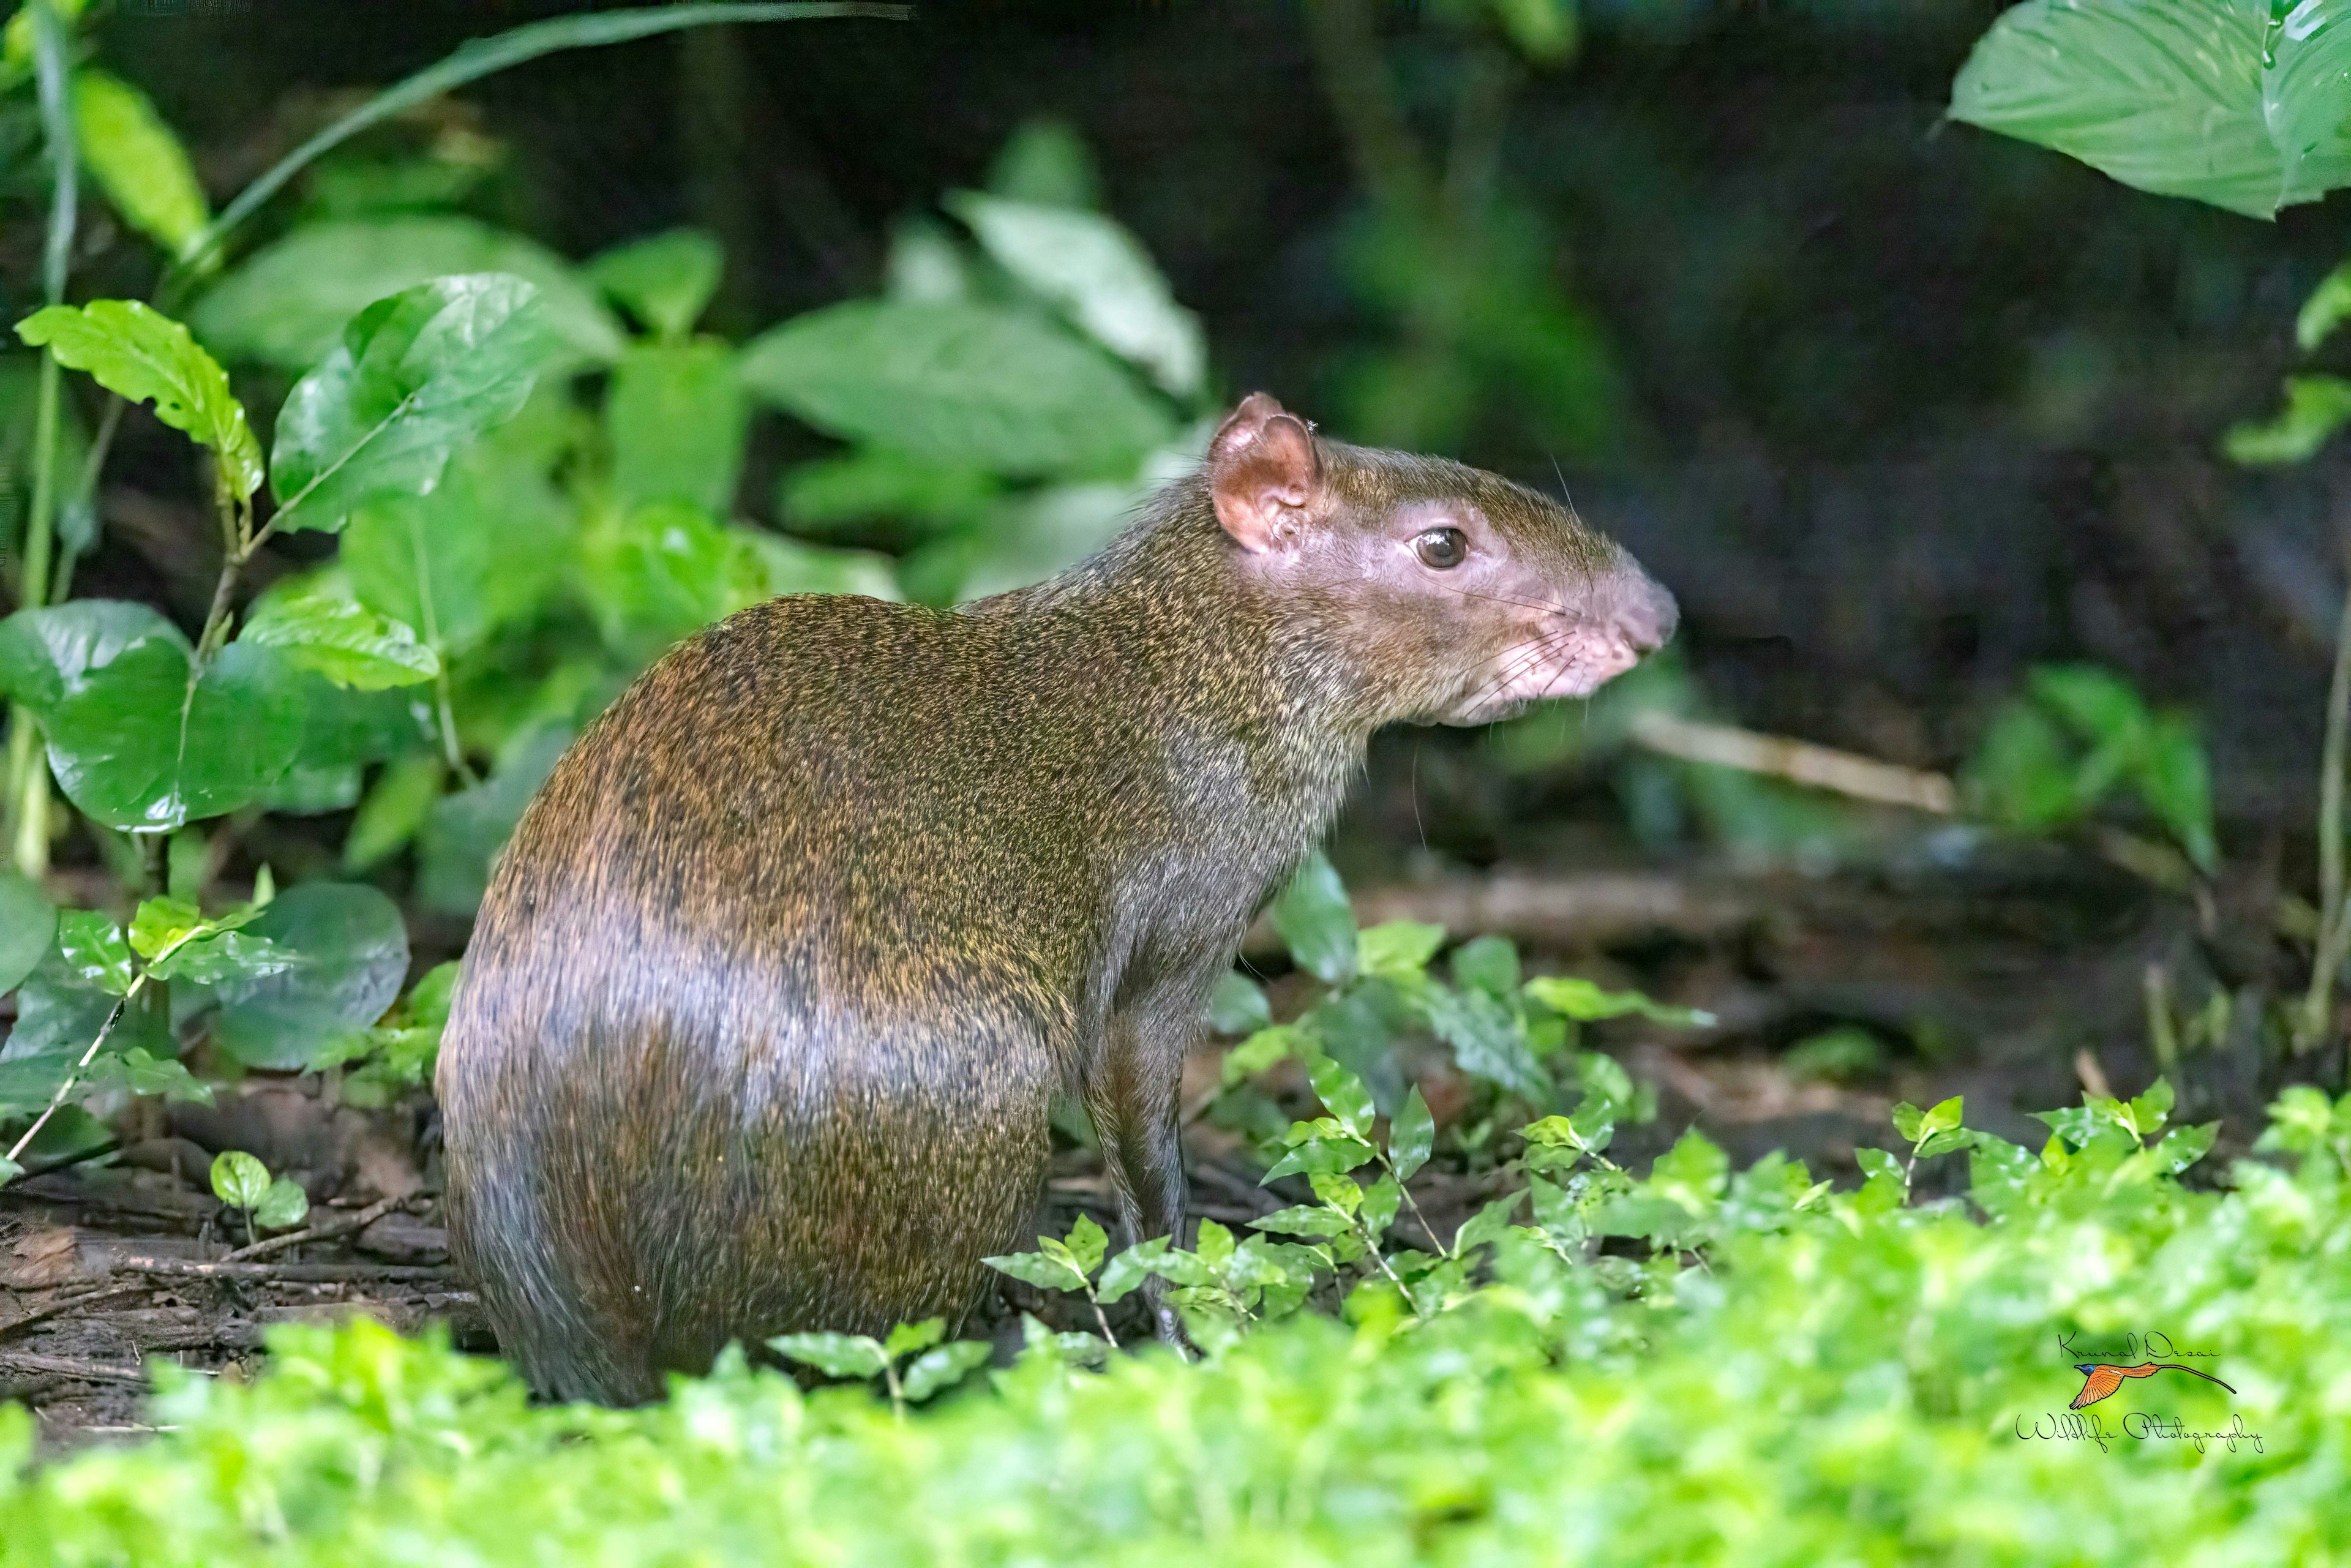
[(818, 430), (933, 463), (1126, 475), (1176, 421), (1046, 320), (962, 301), (853, 301), (776, 327), (743, 383)]

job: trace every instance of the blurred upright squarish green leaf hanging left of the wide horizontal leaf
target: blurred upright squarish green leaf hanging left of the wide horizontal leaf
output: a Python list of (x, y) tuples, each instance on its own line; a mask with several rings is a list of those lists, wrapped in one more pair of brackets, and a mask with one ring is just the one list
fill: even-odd
[(625, 503), (734, 510), (750, 407), (726, 343), (632, 343), (604, 393), (611, 484)]

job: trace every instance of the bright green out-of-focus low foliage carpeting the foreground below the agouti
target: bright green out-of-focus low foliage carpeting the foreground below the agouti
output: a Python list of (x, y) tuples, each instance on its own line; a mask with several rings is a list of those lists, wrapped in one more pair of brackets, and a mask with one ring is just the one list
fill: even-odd
[[(284, 1328), (254, 1385), (160, 1368), (139, 1446), (26, 1467), (33, 1422), (0, 1415), (0, 1563), (2351, 1552), (2351, 1103), (2288, 1091), (2283, 1159), (2226, 1190), (2071, 1131), (1984, 1140), (1933, 1206), (1806, 1201), (1777, 1161), (1657, 1175), (1702, 1253), (1594, 1267), (1526, 1227), (1425, 1321), (1364, 1286), (1199, 1366), (1039, 1342), (905, 1415), (741, 1359), (644, 1410), (534, 1408), (444, 1342)], [(2149, 1359), (2233, 1394), (2158, 1373), (2067, 1413), (2076, 1363)]]

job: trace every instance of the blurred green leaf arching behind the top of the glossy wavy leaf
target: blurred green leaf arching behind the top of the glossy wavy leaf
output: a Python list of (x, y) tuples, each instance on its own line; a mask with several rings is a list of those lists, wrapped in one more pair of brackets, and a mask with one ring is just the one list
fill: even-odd
[(510, 273), (536, 284), (548, 327), (574, 360), (621, 353), (621, 324), (562, 256), (454, 216), (306, 223), (223, 277), (188, 320), (228, 360), (299, 371), (367, 306), (451, 273)]

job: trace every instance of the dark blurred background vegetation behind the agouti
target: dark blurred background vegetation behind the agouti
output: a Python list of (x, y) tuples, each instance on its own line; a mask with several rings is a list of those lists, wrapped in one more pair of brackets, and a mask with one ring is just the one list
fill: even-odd
[[(219, 205), (465, 38), (583, 9), (125, 0), (89, 7), (78, 49), (153, 101)], [(2076, 1048), (2154, 1072), (2182, 1030), (2217, 1044), (2299, 985), (2266, 912), (2306, 938), (2344, 531), (2337, 458), (2243, 468), (2222, 437), (2273, 407), (2337, 223), (2144, 195), (1947, 122), (1998, 12), (959, 5), (557, 54), (421, 103), (308, 167), (169, 303), (268, 444), (268, 409), (371, 299), (451, 270), (541, 287), (569, 357), (517, 421), (341, 541), (275, 536), (240, 585), (393, 616), (437, 675), (315, 703), (296, 764), (167, 851), (56, 811), (52, 891), (364, 882), (421, 973), (463, 947), (564, 738), (661, 646), (769, 592), (955, 602), (1044, 576), (1267, 388), (1340, 437), (1573, 496), (1683, 604), (1669, 656), (1596, 703), (1382, 738), (1333, 849), (1352, 884), (1728, 867), (1791, 879), (1766, 903), (1796, 907), (1843, 867), (1909, 912), (1813, 910), (1789, 919), (1834, 940), (1773, 938), (1700, 886), (1596, 936), (1491, 900), (1446, 919), (1606, 950), (1810, 1079), (1888, 1053), (1949, 1070), (2001, 1037), (2048, 1103)], [(40, 146), (33, 94), (0, 99), (9, 320), (42, 299)], [(87, 200), (73, 296), (148, 296), (143, 228)], [(9, 531), (33, 364), (0, 355)], [(73, 378), (68, 414), (78, 454), (106, 407)], [(71, 592), (200, 625), (205, 496), (183, 437), (132, 411), (87, 508), (66, 496)], [(2017, 858), (1688, 762), (1643, 712), (1951, 773), (1977, 820), (2104, 806), (2125, 832)], [(2001, 903), (2055, 884), (2055, 914)], [(2233, 907), (2264, 919), (2231, 950)], [(2085, 931), (2095, 983), (2064, 959)]]

